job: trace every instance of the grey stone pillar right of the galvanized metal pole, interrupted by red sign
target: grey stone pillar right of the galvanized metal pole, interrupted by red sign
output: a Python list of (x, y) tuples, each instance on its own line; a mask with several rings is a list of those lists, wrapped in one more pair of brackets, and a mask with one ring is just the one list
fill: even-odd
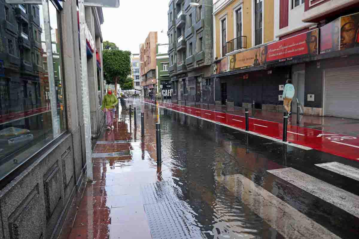
[[(90, 33), (95, 39), (95, 21), (94, 12), (91, 7), (85, 8), (86, 24), (90, 30)], [(90, 98), (90, 117), (91, 117), (91, 135), (97, 136), (99, 133), (99, 104), (98, 104), (98, 87), (97, 87), (97, 64), (96, 64), (96, 49), (94, 49), (91, 58), (87, 59), (87, 74), (89, 84), (89, 98)]]

